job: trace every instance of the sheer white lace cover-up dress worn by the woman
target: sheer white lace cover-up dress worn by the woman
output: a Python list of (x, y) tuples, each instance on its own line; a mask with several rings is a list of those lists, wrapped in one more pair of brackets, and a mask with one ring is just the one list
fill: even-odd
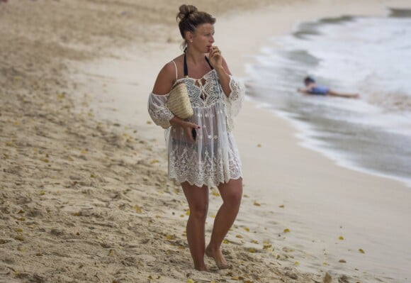
[(169, 178), (179, 184), (188, 182), (197, 187), (217, 187), (230, 179), (242, 177), (240, 155), (231, 131), (233, 121), (244, 99), (244, 85), (230, 76), (230, 95), (227, 97), (215, 70), (201, 79), (184, 77), (188, 89), (193, 116), (186, 121), (195, 123), (196, 143), (188, 140), (181, 126), (171, 126), (174, 117), (167, 109), (169, 94), (150, 94), (148, 111), (154, 123), (166, 129), (169, 159)]

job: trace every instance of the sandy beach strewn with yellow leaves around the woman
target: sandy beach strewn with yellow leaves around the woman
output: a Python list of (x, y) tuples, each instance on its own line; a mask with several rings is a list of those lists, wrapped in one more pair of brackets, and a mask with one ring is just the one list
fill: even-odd
[[(410, 282), (411, 189), (339, 167), (247, 100), (231, 270), (193, 270), (184, 194), (147, 96), (177, 1), (0, 2), (0, 282)], [(409, 1), (193, 1), (232, 73), (296, 24)], [(244, 24), (246, 23), (246, 24)], [(272, 44), (272, 43), (271, 43)], [(206, 238), (220, 205), (210, 192)]]

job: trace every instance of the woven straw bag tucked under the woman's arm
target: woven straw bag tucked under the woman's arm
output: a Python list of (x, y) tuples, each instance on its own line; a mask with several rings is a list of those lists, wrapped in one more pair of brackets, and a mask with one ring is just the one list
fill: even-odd
[(171, 89), (169, 99), (167, 100), (167, 108), (171, 113), (183, 120), (193, 116), (193, 107), (191, 107), (187, 87), (184, 82), (176, 84)]

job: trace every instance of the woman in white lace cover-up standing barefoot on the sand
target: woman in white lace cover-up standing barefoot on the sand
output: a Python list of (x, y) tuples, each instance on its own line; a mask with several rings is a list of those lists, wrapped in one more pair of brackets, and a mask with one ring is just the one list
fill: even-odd
[[(231, 131), (244, 87), (232, 77), (220, 49), (213, 46), (215, 18), (195, 6), (181, 5), (176, 19), (184, 54), (160, 70), (148, 110), (154, 123), (166, 129), (169, 177), (181, 184), (188, 201), (187, 240), (194, 267), (208, 270), (204, 262), (208, 255), (224, 269), (228, 265), (221, 243), (237, 217), (242, 197), (241, 162)], [(181, 82), (193, 108), (193, 116), (185, 120), (167, 108), (171, 88)], [(210, 187), (218, 187), (223, 204), (205, 248)]]

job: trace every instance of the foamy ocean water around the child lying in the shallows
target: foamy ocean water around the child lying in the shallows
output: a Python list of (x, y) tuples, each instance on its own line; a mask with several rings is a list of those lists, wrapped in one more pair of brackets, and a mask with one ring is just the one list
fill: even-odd
[[(411, 184), (411, 10), (322, 18), (273, 38), (247, 66), (248, 94), (339, 165)], [(360, 99), (305, 96), (303, 78)]]

